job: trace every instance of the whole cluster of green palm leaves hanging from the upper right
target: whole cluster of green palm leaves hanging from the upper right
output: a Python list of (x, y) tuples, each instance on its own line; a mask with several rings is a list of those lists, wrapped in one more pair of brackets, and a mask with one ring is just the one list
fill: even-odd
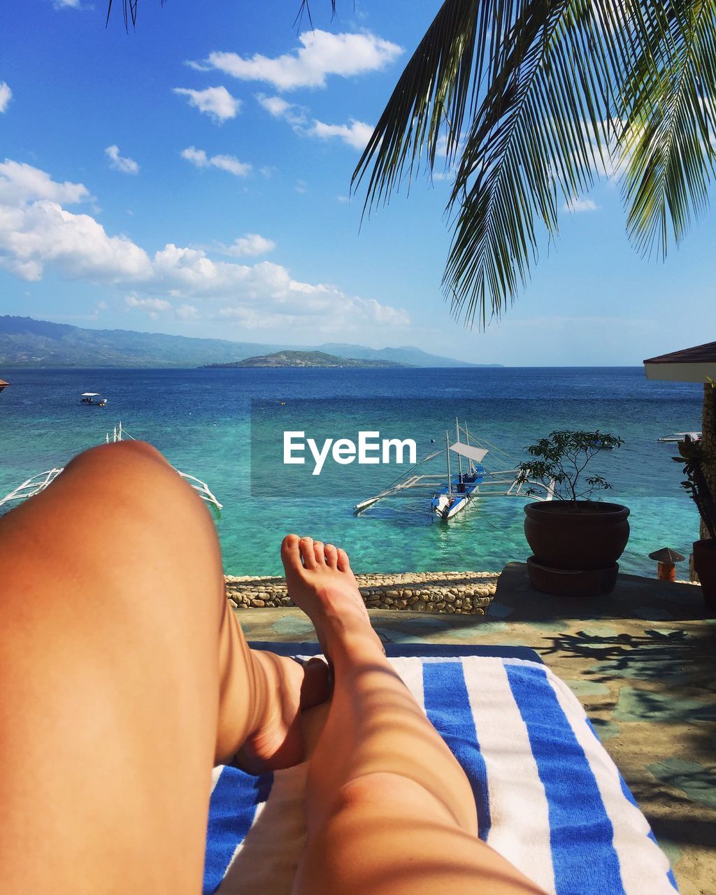
[(433, 170), (446, 127), (448, 164), (460, 158), (443, 286), (482, 326), (524, 288), (561, 202), (606, 165), (626, 168), (637, 246), (665, 252), (669, 228), (681, 239), (706, 207), (714, 170), (715, 4), (447, 0), (354, 171), (364, 210), (422, 161)]

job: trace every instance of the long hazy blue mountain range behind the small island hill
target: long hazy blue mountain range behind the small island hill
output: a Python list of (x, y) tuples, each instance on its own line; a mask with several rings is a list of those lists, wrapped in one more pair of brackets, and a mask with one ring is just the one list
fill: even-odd
[(234, 363), (279, 351), (320, 351), (361, 361), (418, 367), (473, 364), (426, 354), (419, 348), (364, 345), (259, 345), (226, 339), (167, 336), (128, 329), (83, 329), (30, 317), (0, 316), (0, 367), (200, 367)]

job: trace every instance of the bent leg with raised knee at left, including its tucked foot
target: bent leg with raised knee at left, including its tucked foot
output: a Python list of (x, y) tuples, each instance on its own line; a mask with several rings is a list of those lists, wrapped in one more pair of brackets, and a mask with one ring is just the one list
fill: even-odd
[(0, 631), (4, 895), (197, 895), (215, 760), (301, 760), (326, 696), (248, 649), (209, 513), (137, 442), (0, 519)]

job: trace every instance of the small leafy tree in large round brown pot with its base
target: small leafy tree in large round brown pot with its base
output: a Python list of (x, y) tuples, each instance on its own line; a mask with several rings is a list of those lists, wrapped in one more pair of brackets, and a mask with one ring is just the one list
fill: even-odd
[[(617, 560), (629, 540), (628, 507), (592, 499), (611, 486), (586, 468), (601, 450), (621, 447), (600, 430), (555, 430), (524, 449), (533, 459), (519, 465), (519, 482), (551, 484), (555, 499), (524, 507), (524, 536), (534, 587), (551, 593), (608, 593), (617, 582)], [(533, 493), (527, 489), (526, 493)]]

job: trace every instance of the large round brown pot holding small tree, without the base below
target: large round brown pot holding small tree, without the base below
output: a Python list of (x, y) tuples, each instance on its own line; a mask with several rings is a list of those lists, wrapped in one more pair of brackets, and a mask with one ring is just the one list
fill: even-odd
[(606, 569), (629, 540), (628, 507), (591, 500), (547, 500), (524, 507), (534, 561), (559, 569)]

